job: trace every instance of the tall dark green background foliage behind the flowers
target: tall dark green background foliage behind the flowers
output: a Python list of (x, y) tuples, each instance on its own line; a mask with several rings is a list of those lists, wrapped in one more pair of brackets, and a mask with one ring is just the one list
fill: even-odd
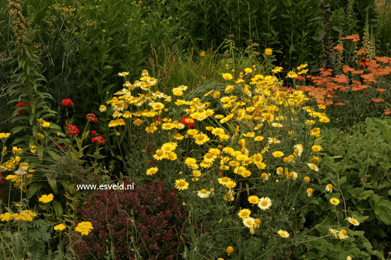
[[(118, 84), (117, 71), (131, 68), (130, 73), (138, 75), (152, 53), (151, 45), (160, 58), (165, 57), (165, 46), (185, 53), (212, 47), (223, 54), (221, 45), (231, 35), (239, 48), (251, 43), (258, 44), (259, 52), (273, 48), (285, 69), (297, 62), (316, 69), (326, 61), (332, 63), (328, 52), (340, 32), (352, 26), (362, 31), (368, 14), (380, 53), (390, 52), (389, 1), (375, 5), (374, 0), (350, 0), (350, 4), (342, 0), (144, 0), (130, 4), (125, 0), (31, 0), (21, 4), (30, 21), (29, 41), (48, 82), (46, 91), (57, 104), (65, 97), (83, 101), (83, 110), (91, 107), (86, 100), (105, 100)], [(346, 23), (348, 5), (357, 20), (353, 25)], [(15, 53), (7, 2), (1, 8), (4, 94), (4, 87), (11, 84), (7, 78), (15, 63), (9, 61)], [(4, 100), (1, 103), (8, 106)], [(8, 117), (3, 114), (2, 121)]]

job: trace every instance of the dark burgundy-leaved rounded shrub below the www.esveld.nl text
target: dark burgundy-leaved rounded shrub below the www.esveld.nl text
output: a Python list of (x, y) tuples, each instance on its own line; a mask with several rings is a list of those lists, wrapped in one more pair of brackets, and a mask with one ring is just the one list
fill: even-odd
[[(128, 184), (125, 180), (124, 188)], [(90, 221), (94, 227), (74, 246), (80, 259), (90, 259), (91, 253), (96, 259), (105, 259), (107, 240), (115, 243), (113, 258), (117, 260), (174, 260), (186, 244), (182, 233), (186, 209), (175, 189), (166, 192), (160, 183), (141, 187), (135, 183), (132, 191), (98, 190), (77, 211), (79, 221)], [(133, 235), (134, 243), (129, 243), (132, 230), (137, 230), (137, 235)]]

